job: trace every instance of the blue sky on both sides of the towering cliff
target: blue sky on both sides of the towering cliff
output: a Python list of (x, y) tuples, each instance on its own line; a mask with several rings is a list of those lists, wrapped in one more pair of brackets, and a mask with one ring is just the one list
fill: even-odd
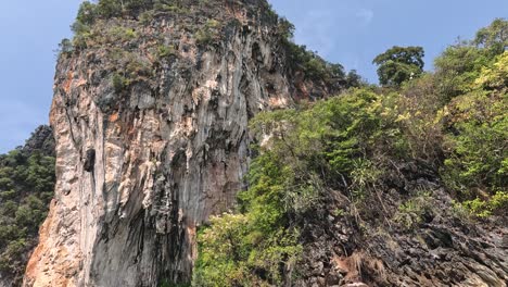
[[(295, 41), (376, 83), (372, 59), (388, 48), (422, 46), (427, 68), (457, 37), (471, 38), (507, 0), (269, 0), (296, 26)], [(71, 37), (81, 0), (1, 1), (0, 153), (48, 123), (55, 55)]]

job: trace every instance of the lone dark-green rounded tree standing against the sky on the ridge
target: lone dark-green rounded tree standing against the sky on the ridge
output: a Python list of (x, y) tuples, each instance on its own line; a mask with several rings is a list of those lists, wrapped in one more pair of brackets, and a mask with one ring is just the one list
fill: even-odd
[(383, 86), (401, 86), (402, 83), (423, 73), (423, 48), (394, 46), (374, 58), (379, 83)]

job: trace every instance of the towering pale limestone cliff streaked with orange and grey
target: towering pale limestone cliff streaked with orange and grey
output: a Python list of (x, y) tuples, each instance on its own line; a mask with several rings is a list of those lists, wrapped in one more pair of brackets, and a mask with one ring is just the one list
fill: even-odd
[(101, 20), (85, 48), (62, 52), (55, 198), (25, 286), (190, 280), (196, 227), (243, 187), (247, 120), (330, 92), (284, 64), (266, 5)]

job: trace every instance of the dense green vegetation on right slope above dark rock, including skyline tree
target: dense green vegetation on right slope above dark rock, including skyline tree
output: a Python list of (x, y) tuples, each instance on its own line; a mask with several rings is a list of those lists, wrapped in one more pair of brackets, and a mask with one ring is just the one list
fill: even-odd
[[(374, 60), (381, 67), (390, 63), (380, 72), (388, 87), (354, 88), (256, 116), (251, 127), (263, 140), (249, 189), (234, 212), (201, 230), (194, 285), (269, 286), (299, 276), (303, 219), (340, 190), (350, 207), (335, 215), (353, 216), (359, 226), (386, 220), (369, 211), (383, 208), (382, 187), (404, 163), (433, 171), (462, 220), (506, 215), (506, 35), (508, 22), (496, 20), (474, 40), (448, 47), (428, 74), (421, 48), (395, 47)], [(411, 228), (432, 209), (431, 196), (412, 195), (390, 224)]]

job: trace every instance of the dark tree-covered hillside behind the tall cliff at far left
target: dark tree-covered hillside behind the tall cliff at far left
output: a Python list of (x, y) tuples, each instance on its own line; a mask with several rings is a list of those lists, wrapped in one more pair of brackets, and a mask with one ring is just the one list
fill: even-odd
[(54, 180), (54, 142), (47, 126), (25, 147), (0, 154), (0, 274), (14, 285), (21, 285), (28, 253), (37, 245)]

